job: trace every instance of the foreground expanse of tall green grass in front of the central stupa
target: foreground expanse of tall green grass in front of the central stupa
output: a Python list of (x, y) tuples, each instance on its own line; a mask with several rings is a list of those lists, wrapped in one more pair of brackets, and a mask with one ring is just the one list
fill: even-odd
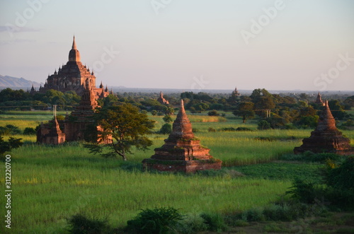
[(137, 160), (92, 156), (79, 145), (26, 145), (11, 156), (13, 227), (25, 233), (57, 231), (64, 218), (80, 211), (109, 214), (113, 226), (156, 206), (183, 213), (243, 211), (275, 200), (290, 186), (285, 181), (142, 172)]

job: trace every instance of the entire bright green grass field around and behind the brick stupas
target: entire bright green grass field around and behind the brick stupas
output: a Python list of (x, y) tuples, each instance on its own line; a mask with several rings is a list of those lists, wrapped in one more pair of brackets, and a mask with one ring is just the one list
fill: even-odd
[[(47, 112), (11, 114), (0, 115), (0, 126), (13, 124), (24, 129), (52, 117)], [(158, 130), (162, 117), (152, 119), (156, 120)], [(231, 115), (226, 122), (215, 122), (207, 116), (190, 119), (195, 120), (192, 124), (198, 129), (195, 136), (201, 144), (211, 149), (212, 156), (223, 160), (222, 172), (183, 175), (142, 171), (142, 159), (152, 156), (167, 135), (150, 135), (154, 145), (145, 152), (135, 151), (127, 162), (93, 156), (81, 143), (43, 146), (34, 144), (35, 136), (16, 135), (23, 138), (25, 145), (10, 153), (12, 230), (63, 233), (65, 218), (79, 212), (98, 218), (108, 216), (111, 226), (120, 227), (135, 217), (139, 209), (161, 206), (173, 206), (181, 213), (244, 211), (278, 199), (296, 176), (316, 178), (316, 171), (322, 166), (276, 161), (300, 146), (311, 129), (256, 131), (256, 120), (242, 124), (241, 119)], [(210, 132), (209, 127), (248, 127), (255, 131)], [(354, 132), (343, 134), (353, 144)], [(259, 137), (274, 140), (263, 141)], [(1, 163), (4, 169), (5, 163)], [(4, 182), (2, 175), (1, 187)], [(4, 204), (4, 196), (0, 201)], [(4, 214), (4, 206), (0, 211)]]

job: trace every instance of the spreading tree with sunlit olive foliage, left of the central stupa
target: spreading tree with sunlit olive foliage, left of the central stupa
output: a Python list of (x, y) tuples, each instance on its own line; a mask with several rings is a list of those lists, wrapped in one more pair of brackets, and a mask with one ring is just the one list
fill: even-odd
[[(98, 131), (102, 139), (112, 136), (110, 144), (86, 144), (90, 153), (99, 153), (104, 157), (119, 156), (127, 160), (127, 153), (132, 153), (132, 146), (139, 150), (146, 150), (152, 141), (145, 135), (154, 128), (154, 121), (130, 103), (118, 106), (98, 107), (93, 118), (102, 130)], [(103, 153), (103, 147), (110, 148), (109, 153)]]

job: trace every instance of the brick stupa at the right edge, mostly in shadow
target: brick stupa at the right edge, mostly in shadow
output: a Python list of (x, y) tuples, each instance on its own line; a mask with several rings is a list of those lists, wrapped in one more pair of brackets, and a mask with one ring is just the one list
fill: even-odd
[(333, 118), (329, 103), (326, 101), (324, 110), (319, 115), (319, 122), (309, 138), (302, 140), (302, 146), (295, 147), (294, 153), (336, 153), (339, 155), (354, 154), (353, 147), (350, 146), (350, 139), (342, 136), (341, 131), (336, 127), (336, 120)]

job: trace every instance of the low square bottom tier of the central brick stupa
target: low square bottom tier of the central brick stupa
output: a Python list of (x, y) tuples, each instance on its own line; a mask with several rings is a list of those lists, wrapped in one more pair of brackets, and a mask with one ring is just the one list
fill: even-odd
[(158, 160), (146, 158), (142, 160), (142, 165), (145, 170), (193, 173), (198, 170), (220, 170), (222, 160), (215, 158), (208, 160)]

